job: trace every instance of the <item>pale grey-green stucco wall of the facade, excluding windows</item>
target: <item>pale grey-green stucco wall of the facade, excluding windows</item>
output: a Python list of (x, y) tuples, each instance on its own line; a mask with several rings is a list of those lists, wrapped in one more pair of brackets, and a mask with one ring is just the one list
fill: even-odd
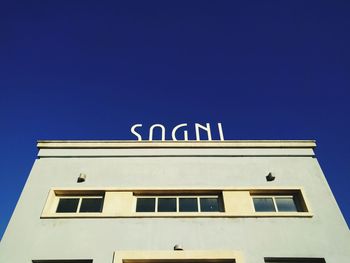
[[(254, 154), (250, 149), (250, 156), (245, 156), (239, 149), (235, 154), (216, 149), (216, 156), (198, 156), (162, 149), (162, 154), (147, 157), (142, 156), (142, 149), (128, 150), (129, 156), (118, 151), (115, 156), (96, 157), (74, 157), (69, 149), (50, 151), (33, 166), (1, 241), (0, 262), (91, 258), (94, 263), (105, 263), (112, 262), (114, 251), (171, 251), (175, 244), (185, 250), (240, 251), (247, 263), (280, 256), (349, 262), (348, 228), (311, 150), (286, 154), (273, 149), (261, 154), (257, 149)], [(62, 157), (52, 157), (55, 153)], [(275, 181), (266, 181), (269, 172)], [(78, 184), (80, 173), (87, 179)], [(111, 186), (302, 187), (313, 217), (40, 219), (52, 187)]]

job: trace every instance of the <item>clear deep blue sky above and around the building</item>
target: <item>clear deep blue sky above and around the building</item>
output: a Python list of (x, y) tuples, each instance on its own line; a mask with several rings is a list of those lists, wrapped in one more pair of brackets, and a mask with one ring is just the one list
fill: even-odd
[(135, 139), (222, 122), (316, 139), (350, 223), (350, 1), (7, 1), (0, 7), (0, 236), (38, 139)]

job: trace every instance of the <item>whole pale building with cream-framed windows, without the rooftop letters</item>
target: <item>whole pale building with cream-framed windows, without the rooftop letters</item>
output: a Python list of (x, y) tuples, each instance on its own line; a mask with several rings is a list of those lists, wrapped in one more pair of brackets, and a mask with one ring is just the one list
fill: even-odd
[(39, 141), (6, 263), (347, 263), (314, 141)]

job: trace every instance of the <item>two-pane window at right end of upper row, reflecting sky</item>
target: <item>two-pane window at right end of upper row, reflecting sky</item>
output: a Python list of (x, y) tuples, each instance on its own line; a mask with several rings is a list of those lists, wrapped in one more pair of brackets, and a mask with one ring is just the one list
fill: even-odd
[(253, 195), (256, 212), (306, 212), (300, 195)]

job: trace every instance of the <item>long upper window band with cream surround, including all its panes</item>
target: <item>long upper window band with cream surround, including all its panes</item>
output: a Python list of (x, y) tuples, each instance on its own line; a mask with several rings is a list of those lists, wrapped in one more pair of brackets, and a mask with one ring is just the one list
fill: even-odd
[(51, 189), (41, 218), (312, 217), (301, 189)]

